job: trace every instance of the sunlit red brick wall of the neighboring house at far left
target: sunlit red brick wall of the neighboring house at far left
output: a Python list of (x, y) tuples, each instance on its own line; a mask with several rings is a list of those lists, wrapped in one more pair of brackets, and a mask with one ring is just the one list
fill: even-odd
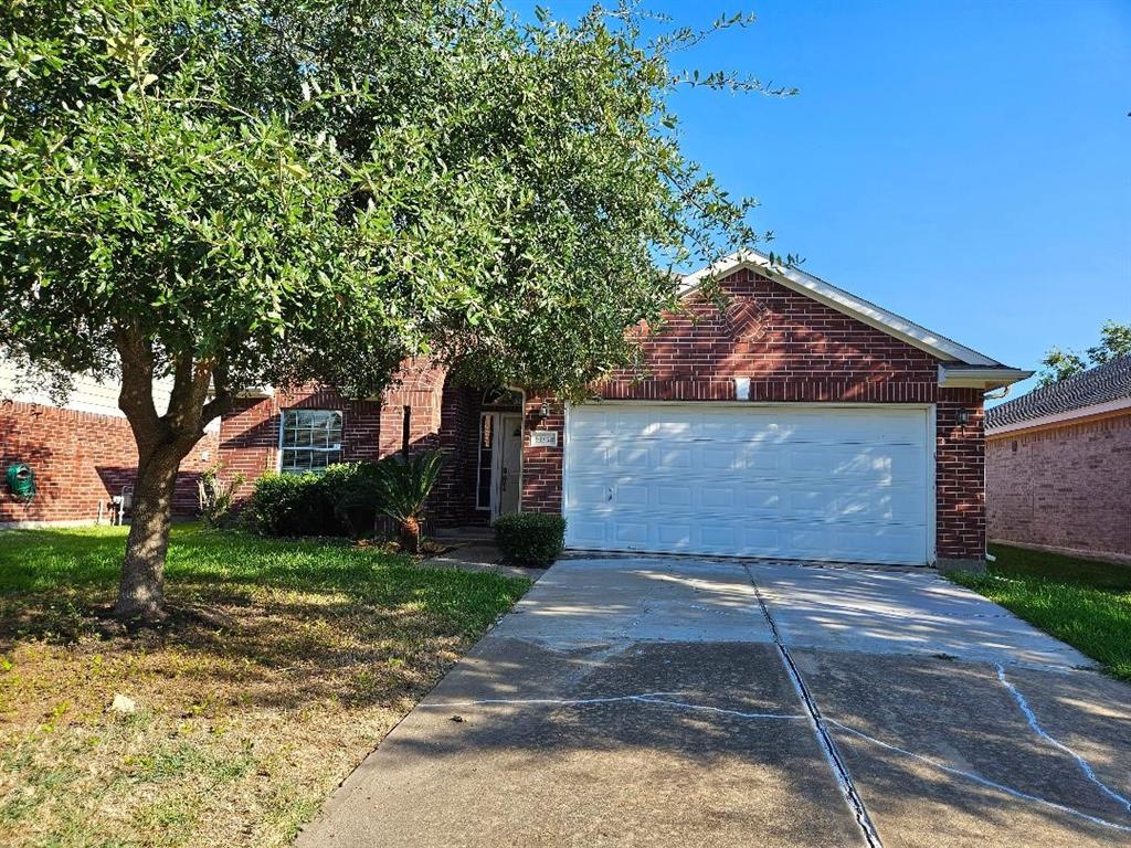
[[(181, 464), (173, 511), (197, 511), (197, 478), (217, 459), (218, 439), (207, 434)], [(0, 401), (0, 474), (11, 462), (35, 471), (37, 494), (29, 505), (8, 494), (0, 483), (0, 522), (93, 521), (98, 504), (137, 476), (138, 455), (126, 418), (72, 409)]]

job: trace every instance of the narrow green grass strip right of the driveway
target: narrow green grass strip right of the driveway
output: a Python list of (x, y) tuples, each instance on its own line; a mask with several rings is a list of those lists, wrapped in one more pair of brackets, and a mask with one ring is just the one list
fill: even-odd
[(1131, 681), (1131, 566), (992, 545), (985, 574), (955, 574), (1030, 624)]

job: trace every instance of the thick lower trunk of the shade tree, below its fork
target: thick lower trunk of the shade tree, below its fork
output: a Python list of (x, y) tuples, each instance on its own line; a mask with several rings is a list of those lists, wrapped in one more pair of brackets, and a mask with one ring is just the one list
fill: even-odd
[(133, 511), (114, 615), (147, 622), (165, 617), (165, 552), (173, 514), (173, 488), (188, 451), (158, 444), (138, 457)]

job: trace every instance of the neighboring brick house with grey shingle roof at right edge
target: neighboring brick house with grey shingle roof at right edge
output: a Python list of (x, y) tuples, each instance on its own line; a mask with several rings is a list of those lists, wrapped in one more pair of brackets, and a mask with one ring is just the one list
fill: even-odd
[(994, 542), (1131, 562), (1131, 355), (986, 415)]

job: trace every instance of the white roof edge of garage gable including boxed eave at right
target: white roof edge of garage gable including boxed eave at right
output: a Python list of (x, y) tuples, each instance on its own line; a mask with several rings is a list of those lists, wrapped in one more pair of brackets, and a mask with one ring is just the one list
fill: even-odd
[(774, 262), (757, 250), (740, 250), (682, 279), (681, 294), (688, 295), (708, 279), (718, 279), (741, 268), (751, 268), (800, 294), (925, 351), (939, 361), (939, 384), (957, 388), (996, 388), (1024, 380), (1031, 371), (1021, 371), (960, 345), (953, 339), (921, 327), (895, 312), (837, 288), (820, 277)]

